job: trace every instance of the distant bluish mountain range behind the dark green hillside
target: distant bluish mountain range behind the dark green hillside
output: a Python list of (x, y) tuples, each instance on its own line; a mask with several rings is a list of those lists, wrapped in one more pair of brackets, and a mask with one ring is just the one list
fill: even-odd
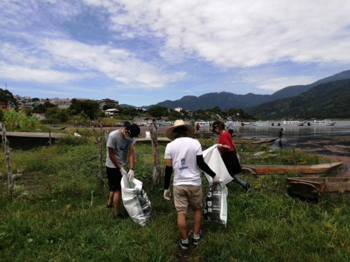
[[(335, 75), (323, 78), (309, 85), (295, 85), (290, 87), (285, 87), (274, 94), (232, 94), (229, 92), (215, 92), (203, 94), (202, 96), (183, 96), (183, 98), (175, 101), (166, 100), (156, 105), (164, 106), (166, 108), (176, 108), (181, 107), (184, 110), (205, 110), (214, 107), (221, 108), (221, 110), (226, 110), (228, 108), (241, 108), (246, 110), (247, 108), (252, 108), (256, 105), (261, 105), (263, 103), (276, 101), (279, 99), (286, 99), (293, 96), (298, 96), (304, 92), (307, 92), (313, 87), (322, 85), (329, 82), (335, 82), (337, 80), (350, 79), (350, 70), (337, 73)], [(152, 105), (148, 105), (147, 108)], [(248, 110), (250, 111), (250, 110)], [(253, 110), (252, 110), (253, 112)]]

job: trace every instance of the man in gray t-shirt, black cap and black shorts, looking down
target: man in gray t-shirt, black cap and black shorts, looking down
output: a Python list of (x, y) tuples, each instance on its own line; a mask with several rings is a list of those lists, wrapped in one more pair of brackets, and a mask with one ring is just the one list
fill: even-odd
[[(122, 191), (120, 181), (123, 175), (129, 180), (134, 177), (134, 137), (139, 136), (140, 128), (137, 124), (128, 124), (124, 129), (118, 129), (109, 133), (107, 139), (106, 173), (109, 180), (109, 201), (107, 208), (114, 208), (113, 218), (123, 219), (120, 212)], [(129, 172), (123, 166), (129, 157)]]

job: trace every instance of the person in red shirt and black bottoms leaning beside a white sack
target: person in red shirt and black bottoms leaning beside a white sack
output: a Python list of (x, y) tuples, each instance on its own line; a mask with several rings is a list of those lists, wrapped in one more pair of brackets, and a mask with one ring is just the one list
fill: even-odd
[(212, 124), (213, 132), (219, 135), (218, 137), (218, 150), (221, 154), (221, 158), (225, 163), (228, 173), (233, 177), (233, 181), (244, 187), (244, 191), (248, 192), (251, 188), (251, 183), (247, 183), (235, 177), (236, 174), (241, 173), (241, 165), (237, 158), (237, 151), (235, 144), (233, 143), (232, 136), (228, 131), (225, 131), (225, 124), (221, 121), (215, 121)]

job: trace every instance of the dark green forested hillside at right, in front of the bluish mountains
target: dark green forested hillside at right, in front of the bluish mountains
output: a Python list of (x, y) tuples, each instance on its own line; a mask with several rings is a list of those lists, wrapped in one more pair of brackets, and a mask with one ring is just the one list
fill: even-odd
[(350, 118), (350, 80), (318, 85), (293, 98), (263, 103), (246, 111), (267, 119)]

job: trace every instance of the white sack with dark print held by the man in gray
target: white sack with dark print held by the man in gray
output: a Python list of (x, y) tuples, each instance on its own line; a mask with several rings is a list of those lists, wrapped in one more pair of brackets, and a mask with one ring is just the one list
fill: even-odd
[(122, 181), (122, 199), (123, 205), (132, 220), (144, 226), (148, 220), (151, 220), (151, 202), (142, 189), (142, 182), (132, 178), (129, 182), (126, 175), (123, 175)]

